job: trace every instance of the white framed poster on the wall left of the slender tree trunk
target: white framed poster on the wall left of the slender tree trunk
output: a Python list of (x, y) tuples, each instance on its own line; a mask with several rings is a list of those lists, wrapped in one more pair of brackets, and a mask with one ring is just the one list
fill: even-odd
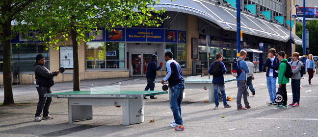
[(60, 46), (60, 67), (73, 68), (73, 47)]

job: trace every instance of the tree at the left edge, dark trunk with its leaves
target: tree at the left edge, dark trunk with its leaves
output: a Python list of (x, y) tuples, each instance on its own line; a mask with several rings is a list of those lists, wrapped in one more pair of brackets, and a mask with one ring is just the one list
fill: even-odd
[[(12, 94), (11, 80), (11, 39), (17, 33), (25, 31), (27, 24), (18, 23), (16, 20), (21, 20), (23, 14), (32, 14), (33, 11), (28, 9), (36, 8), (37, 0), (1, 0), (0, 1), (0, 33), (2, 34), (0, 42), (3, 44), (3, 86), (4, 100), (3, 105), (14, 104)], [(11, 22), (15, 25), (11, 26)]]

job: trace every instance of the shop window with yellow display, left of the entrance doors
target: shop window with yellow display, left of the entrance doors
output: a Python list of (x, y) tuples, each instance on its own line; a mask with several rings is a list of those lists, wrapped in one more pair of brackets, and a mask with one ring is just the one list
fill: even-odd
[(125, 43), (86, 43), (86, 68), (125, 68)]

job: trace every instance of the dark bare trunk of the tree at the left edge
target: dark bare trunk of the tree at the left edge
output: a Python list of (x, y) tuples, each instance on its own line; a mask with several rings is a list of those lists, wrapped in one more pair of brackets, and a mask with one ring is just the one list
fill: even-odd
[[(2, 12), (3, 13), (3, 12)], [(12, 79), (11, 79), (11, 20), (7, 19), (2, 24), (2, 42), (3, 42), (3, 87), (4, 100), (3, 105), (14, 104), (12, 93)]]

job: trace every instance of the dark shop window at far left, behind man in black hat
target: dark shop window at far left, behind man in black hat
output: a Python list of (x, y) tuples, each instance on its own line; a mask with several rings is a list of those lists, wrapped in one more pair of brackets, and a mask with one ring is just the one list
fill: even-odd
[(43, 54), (45, 58), (45, 67), (50, 69), (50, 52), (45, 49), (43, 44), (21, 45), (19, 48), (16, 44), (11, 46), (11, 71), (12, 72), (32, 72), (33, 64), (37, 54)]

